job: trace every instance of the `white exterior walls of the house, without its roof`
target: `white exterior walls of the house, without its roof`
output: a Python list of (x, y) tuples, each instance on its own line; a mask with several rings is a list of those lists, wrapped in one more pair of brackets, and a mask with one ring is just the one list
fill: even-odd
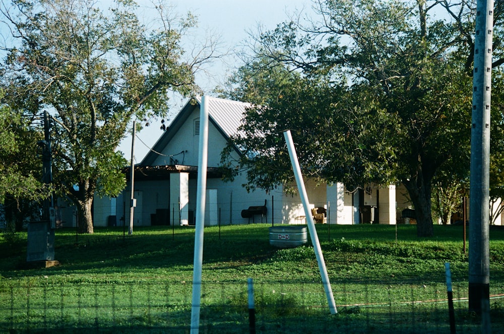
[[(187, 120), (180, 125), (152, 165), (198, 165), (199, 117), (200, 108), (196, 105), (191, 114), (188, 115)], [(208, 135), (208, 166), (218, 167), (221, 152), (227, 144), (226, 139), (213, 122), (209, 122)], [(236, 152), (233, 151), (232, 154), (234, 158), (238, 159)], [(184, 206), (187, 210), (187, 216), (183, 216), (183, 218), (189, 224), (192, 224), (194, 223), (194, 212), (196, 211), (197, 179), (193, 175), (186, 182), (188, 195)], [(207, 178), (206, 225), (216, 225), (218, 223), (222, 225), (247, 224), (249, 222), (271, 224), (272, 220), (274, 224), (305, 223), (305, 212), (298, 194), (285, 194), (283, 187), (268, 193), (261, 189), (247, 192), (242, 186), (246, 182), (245, 174), (238, 175), (234, 182), (224, 182), (220, 178)], [(317, 185), (313, 180), (308, 179), (305, 180), (305, 186), (310, 209), (316, 207), (326, 208), (329, 224), (359, 224), (361, 219), (359, 208), (364, 205), (379, 207), (378, 219), (374, 223), (403, 223), (401, 211), (411, 206), (406, 189), (402, 185), (367, 187), (367, 191), (364, 190), (363, 196), (362, 194), (359, 195), (358, 191), (346, 191), (343, 183)], [(178, 223), (180, 220), (178, 216), (178, 196), (178, 192), (177, 195), (174, 195), (174, 192), (170, 194), (169, 179), (135, 182), (137, 207), (135, 208), (134, 226), (149, 226), (153, 224), (154, 220), (157, 223), (160, 220), (164, 223), (173, 220)], [(250, 206), (262, 206), (265, 201), (268, 210), (266, 217), (242, 218), (242, 210)], [(107, 226), (110, 221), (109, 217), (114, 216), (114, 214), (117, 225), (121, 225), (121, 218), (127, 224), (129, 223), (129, 189), (126, 189), (120, 196), (112, 200), (105, 197), (95, 197), (95, 226)], [(75, 226), (75, 222), (72, 223)], [(501, 224), (500, 219), (496, 223)]]

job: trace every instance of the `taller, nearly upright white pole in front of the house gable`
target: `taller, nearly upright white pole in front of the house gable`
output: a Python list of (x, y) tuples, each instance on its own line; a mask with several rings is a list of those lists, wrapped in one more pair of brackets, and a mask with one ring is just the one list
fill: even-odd
[(201, 99), (200, 141), (198, 157), (198, 187), (196, 193), (196, 232), (194, 236), (193, 302), (191, 309), (191, 334), (200, 330), (201, 268), (203, 264), (203, 230), (205, 227), (205, 196), (208, 163), (208, 102)]

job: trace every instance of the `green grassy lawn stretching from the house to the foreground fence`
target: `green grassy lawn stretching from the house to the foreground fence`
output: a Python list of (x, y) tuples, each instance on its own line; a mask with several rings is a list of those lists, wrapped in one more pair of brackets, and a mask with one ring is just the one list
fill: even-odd
[[(451, 263), (457, 326), (467, 312), (462, 226), (318, 225), (338, 314), (329, 315), (313, 248), (269, 244), (266, 224), (205, 228), (202, 329), (247, 332), (246, 281), (256, 288), (258, 332), (447, 332), (445, 262)], [(308, 238), (309, 239), (309, 238)], [(187, 332), (194, 227), (56, 231), (60, 265), (25, 269), (26, 234), (0, 237), (0, 332)], [(467, 240), (469, 238), (467, 237)], [(467, 247), (469, 244), (467, 243)], [(504, 229), (490, 230), (492, 330), (504, 330)]]

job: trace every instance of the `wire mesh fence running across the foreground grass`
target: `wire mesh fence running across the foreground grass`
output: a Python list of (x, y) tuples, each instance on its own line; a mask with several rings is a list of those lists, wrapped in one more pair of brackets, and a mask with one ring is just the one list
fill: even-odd
[[(191, 282), (103, 282), (48, 278), (0, 281), (0, 332), (188, 333)], [(20, 284), (20, 282), (22, 282)], [(338, 314), (330, 315), (322, 285), (255, 284), (258, 333), (450, 332), (446, 286), (361, 282), (333, 285)], [(492, 330), (504, 329), (502, 295), (492, 292)], [(456, 329), (480, 333), (481, 319), (467, 311), (467, 285), (454, 286)], [(203, 282), (200, 331), (250, 331), (246, 282)]]

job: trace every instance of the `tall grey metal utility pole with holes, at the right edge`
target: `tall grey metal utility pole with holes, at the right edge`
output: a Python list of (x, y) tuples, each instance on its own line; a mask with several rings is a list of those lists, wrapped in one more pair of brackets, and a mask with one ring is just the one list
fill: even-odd
[(474, 76), (469, 199), (469, 310), (481, 313), (490, 303), (489, 168), (493, 0), (478, 0), (474, 40)]

